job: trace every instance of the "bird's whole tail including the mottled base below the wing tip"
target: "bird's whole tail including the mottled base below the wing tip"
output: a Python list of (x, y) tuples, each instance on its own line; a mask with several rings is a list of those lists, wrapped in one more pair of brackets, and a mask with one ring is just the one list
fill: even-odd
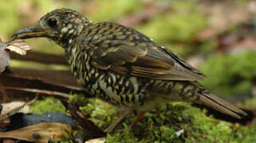
[(214, 110), (218, 110), (223, 114), (227, 114), (238, 119), (241, 119), (243, 116), (247, 115), (246, 112), (244, 112), (237, 106), (234, 106), (230, 102), (227, 102), (224, 99), (214, 94), (211, 94), (210, 91), (204, 89), (203, 86), (199, 85), (199, 83), (192, 84), (194, 84), (194, 86), (197, 87), (197, 90), (195, 90), (195, 98), (189, 99), (191, 100), (191, 102), (198, 102), (199, 104), (211, 107)]

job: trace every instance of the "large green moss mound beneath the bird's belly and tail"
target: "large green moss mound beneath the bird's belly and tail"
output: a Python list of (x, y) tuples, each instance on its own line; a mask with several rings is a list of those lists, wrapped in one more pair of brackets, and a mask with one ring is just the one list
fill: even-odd
[[(254, 142), (256, 126), (239, 126), (207, 117), (202, 110), (187, 103), (162, 106), (146, 114), (130, 129), (134, 116), (129, 116), (123, 128), (108, 134), (108, 142)], [(179, 137), (175, 133), (184, 130)], [(246, 131), (248, 129), (248, 131)], [(250, 133), (246, 135), (245, 133)], [(128, 137), (128, 138), (126, 138)], [(246, 141), (245, 141), (246, 139)]]

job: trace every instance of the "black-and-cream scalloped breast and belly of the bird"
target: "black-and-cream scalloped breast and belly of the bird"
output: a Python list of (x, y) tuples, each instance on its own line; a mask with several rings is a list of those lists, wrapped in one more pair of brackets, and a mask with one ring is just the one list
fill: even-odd
[(88, 52), (78, 48), (67, 50), (66, 56), (73, 76), (85, 90), (114, 105), (139, 104), (145, 96), (144, 85), (136, 77), (127, 77), (94, 68)]

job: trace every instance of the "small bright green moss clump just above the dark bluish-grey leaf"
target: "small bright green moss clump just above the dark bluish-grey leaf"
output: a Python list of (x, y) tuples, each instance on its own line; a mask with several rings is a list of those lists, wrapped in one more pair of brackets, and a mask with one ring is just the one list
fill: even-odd
[(43, 114), (46, 112), (65, 113), (65, 107), (58, 99), (47, 97), (43, 100), (38, 100), (30, 106), (30, 113)]

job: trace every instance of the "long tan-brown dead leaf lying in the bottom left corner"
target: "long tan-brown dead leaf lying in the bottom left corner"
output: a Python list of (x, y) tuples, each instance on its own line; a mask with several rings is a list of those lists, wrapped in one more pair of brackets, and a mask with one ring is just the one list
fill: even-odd
[(65, 141), (72, 137), (72, 133), (72, 127), (67, 124), (45, 122), (8, 132), (0, 132), (0, 138), (14, 138), (33, 142)]

